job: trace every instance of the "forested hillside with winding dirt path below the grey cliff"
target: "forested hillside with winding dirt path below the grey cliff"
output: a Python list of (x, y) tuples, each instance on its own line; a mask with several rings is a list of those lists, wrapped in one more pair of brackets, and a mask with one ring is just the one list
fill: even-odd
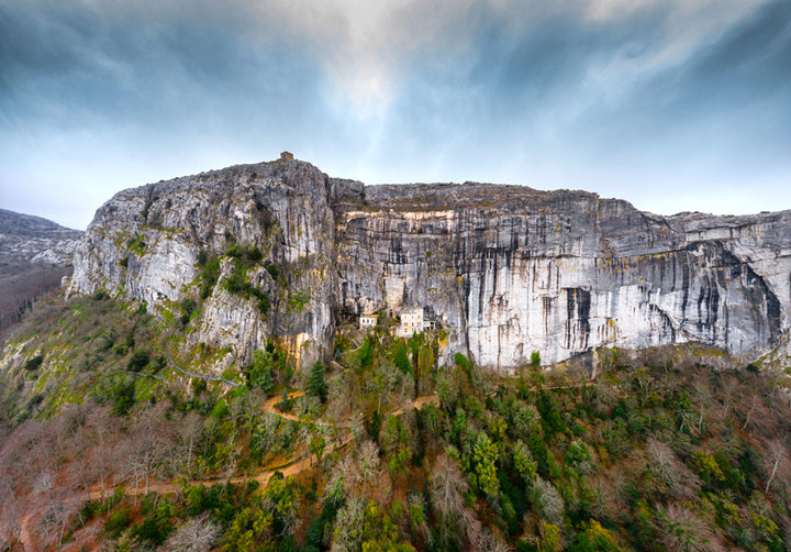
[[(339, 327), (296, 371), (196, 306), (36, 308), (2, 351), (0, 550), (781, 551), (786, 374), (689, 344), (511, 378), (442, 330)], [(534, 355), (535, 364), (541, 360)]]

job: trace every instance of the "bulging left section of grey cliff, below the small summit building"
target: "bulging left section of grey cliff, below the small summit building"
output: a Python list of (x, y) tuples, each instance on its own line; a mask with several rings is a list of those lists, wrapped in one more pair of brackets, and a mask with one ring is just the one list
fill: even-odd
[[(349, 186), (310, 164), (279, 161), (124, 190), (88, 227), (68, 294), (103, 288), (177, 311), (175, 302), (198, 299), (207, 286), (192, 339), (249, 360), (276, 338), (298, 357), (315, 358), (335, 323), (330, 200)], [(246, 266), (239, 257), (254, 247), (260, 258)], [(212, 262), (219, 274), (207, 281)], [(231, 286), (235, 272), (244, 274)]]

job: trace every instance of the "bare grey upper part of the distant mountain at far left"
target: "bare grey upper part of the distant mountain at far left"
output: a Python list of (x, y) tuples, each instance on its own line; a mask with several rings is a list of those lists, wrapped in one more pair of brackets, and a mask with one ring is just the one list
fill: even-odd
[(0, 271), (23, 263), (71, 264), (82, 234), (42, 217), (0, 209)]

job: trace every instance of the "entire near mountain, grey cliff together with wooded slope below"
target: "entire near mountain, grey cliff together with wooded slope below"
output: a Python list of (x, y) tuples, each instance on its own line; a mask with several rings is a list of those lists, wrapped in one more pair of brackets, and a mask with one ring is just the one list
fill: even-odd
[(0, 551), (788, 550), (790, 222), (292, 159), (121, 191), (2, 342)]

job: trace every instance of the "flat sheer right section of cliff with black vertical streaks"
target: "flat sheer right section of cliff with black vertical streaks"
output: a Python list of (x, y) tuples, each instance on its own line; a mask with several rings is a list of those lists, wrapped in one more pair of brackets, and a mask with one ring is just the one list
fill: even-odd
[(343, 308), (423, 305), (448, 354), (484, 365), (687, 341), (755, 355), (788, 328), (788, 211), (665, 218), (477, 184), (367, 187), (336, 211)]

